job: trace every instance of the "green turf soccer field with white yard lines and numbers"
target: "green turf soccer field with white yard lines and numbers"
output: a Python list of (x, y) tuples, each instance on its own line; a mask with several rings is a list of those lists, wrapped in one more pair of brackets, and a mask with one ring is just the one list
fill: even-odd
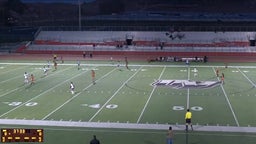
[[(211, 63), (190, 66), (183, 63), (133, 63), (126, 69), (123, 65), (117, 67), (116, 63), (81, 61), (78, 70), (76, 62), (69, 61), (59, 64), (57, 70), (50, 66), (45, 76), (44, 65), (44, 62), (0, 63), (1, 127), (46, 127), (45, 143), (54, 143), (54, 134), (49, 136), (49, 133), (61, 131), (58, 127), (66, 126), (62, 128), (63, 135), (70, 134), (67, 134), (67, 127), (74, 129), (74, 133), (89, 133), (84, 140), (78, 134), (78, 141), (83, 142), (90, 139), (93, 132), (101, 135), (102, 131), (93, 128), (114, 129), (110, 130), (110, 136), (122, 134), (116, 129), (134, 129), (139, 131), (135, 132), (139, 135), (135, 139), (153, 133), (156, 135), (149, 136), (149, 139), (156, 137), (155, 140), (160, 141), (164, 139), (168, 126), (173, 125), (175, 131), (180, 131), (180, 136), (175, 138), (177, 143), (183, 143), (179, 137), (186, 135), (183, 133), (184, 115), (189, 108), (193, 113), (195, 132), (199, 135), (205, 134), (202, 131), (229, 131), (228, 128), (235, 128), (235, 132), (248, 129), (256, 132), (254, 66), (225, 68)], [(224, 84), (216, 76), (217, 68), (220, 75), (225, 75)], [(92, 83), (91, 70), (96, 73), (96, 84)], [(35, 76), (35, 84), (24, 84), (24, 72)], [(75, 94), (70, 92), (70, 82), (75, 85)], [(82, 130), (77, 130), (77, 127)], [(92, 130), (86, 131), (88, 127)], [(237, 137), (241, 139), (244, 135)], [(61, 136), (56, 137), (60, 139)], [(207, 142), (206, 139), (202, 141), (198, 143)], [(247, 142), (251, 141), (255, 141), (255, 137), (249, 136)], [(59, 140), (58, 143), (63, 142)], [(106, 143), (111, 143), (111, 140)], [(145, 140), (144, 143), (155, 142)]]

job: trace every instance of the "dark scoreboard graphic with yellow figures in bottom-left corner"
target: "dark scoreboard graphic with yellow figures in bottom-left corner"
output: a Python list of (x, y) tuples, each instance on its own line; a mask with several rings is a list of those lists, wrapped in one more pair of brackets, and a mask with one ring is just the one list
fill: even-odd
[(1, 142), (43, 142), (43, 129), (2, 128)]

